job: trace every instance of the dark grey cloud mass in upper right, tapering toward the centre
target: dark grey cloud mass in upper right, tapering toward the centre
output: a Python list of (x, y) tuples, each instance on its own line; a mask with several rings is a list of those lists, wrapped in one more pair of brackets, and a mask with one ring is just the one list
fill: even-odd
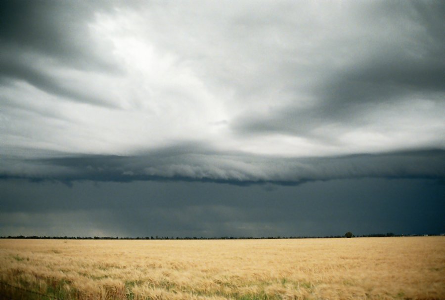
[[(351, 15), (340, 13), (352, 20), (351, 28), (345, 21), (344, 31), (326, 28), (333, 35), (326, 40), (308, 36), (308, 43), (315, 40), (312, 47), (317, 49), (309, 65), (290, 60), (280, 67), (279, 74), (288, 75), (280, 94), (287, 93), (291, 101), (238, 116), (231, 124), (234, 132), (313, 138), (314, 129), (330, 124), (367, 125), (367, 114), (381, 103), (390, 106), (412, 98), (443, 103), (445, 43), (439, 33), (445, 28), (445, 5), (440, 1), (368, 4), (351, 5)], [(294, 82), (288, 81), (292, 74)], [(311, 104), (302, 106), (301, 98), (308, 95)]]

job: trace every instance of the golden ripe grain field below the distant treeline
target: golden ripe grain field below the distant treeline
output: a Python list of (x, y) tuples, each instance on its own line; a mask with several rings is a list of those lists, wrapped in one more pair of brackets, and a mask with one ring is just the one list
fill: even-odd
[(0, 281), (0, 299), (445, 299), (445, 237), (0, 240)]

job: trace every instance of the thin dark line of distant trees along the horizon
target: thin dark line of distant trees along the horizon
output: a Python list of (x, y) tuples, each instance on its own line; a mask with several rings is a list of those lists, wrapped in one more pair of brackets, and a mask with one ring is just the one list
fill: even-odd
[[(424, 236), (433, 236), (434, 234), (424, 234)], [(388, 232), (386, 234), (376, 233), (376, 234), (364, 234), (364, 235), (353, 235), (353, 237), (392, 237), (392, 236), (418, 236), (417, 234), (404, 235), (404, 234), (394, 234)], [(168, 237), (168, 236), (150, 236), (150, 237), (69, 237), (69, 236), (1, 236), (0, 239), (46, 239), (46, 240), (271, 240), (271, 239), (326, 239), (326, 238), (344, 238), (344, 235), (329, 235), (329, 236), (269, 236), (269, 237), (233, 237), (233, 236), (223, 236), (223, 237)]]

